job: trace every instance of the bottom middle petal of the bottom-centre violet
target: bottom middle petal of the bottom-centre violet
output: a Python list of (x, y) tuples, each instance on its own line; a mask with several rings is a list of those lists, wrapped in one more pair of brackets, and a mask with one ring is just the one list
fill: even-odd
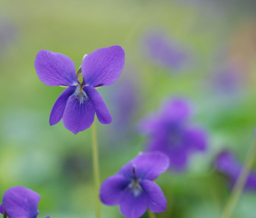
[(120, 213), (128, 218), (141, 217), (146, 212), (147, 198), (145, 193), (134, 196), (130, 188), (126, 188), (120, 200)]

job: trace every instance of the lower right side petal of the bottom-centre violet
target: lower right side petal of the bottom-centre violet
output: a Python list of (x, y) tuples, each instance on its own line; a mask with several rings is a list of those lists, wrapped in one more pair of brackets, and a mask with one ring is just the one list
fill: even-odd
[(167, 201), (161, 188), (155, 182), (143, 180), (140, 182), (146, 196), (148, 196), (148, 208), (155, 213), (166, 210)]

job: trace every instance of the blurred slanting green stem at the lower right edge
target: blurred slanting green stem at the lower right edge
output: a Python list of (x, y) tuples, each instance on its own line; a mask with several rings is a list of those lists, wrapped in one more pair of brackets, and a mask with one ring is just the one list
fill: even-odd
[(239, 200), (239, 197), (243, 191), (243, 187), (245, 186), (245, 182), (250, 173), (252, 164), (254, 163), (255, 156), (256, 156), (256, 144), (254, 143), (249, 149), (245, 165), (243, 166), (242, 172), (240, 173), (239, 178), (237, 179), (237, 182), (234, 185), (234, 188), (231, 192), (228, 203), (226, 204), (223, 210), (222, 216), (220, 216), (220, 218), (231, 217), (234, 211), (234, 208), (236, 207), (237, 201)]

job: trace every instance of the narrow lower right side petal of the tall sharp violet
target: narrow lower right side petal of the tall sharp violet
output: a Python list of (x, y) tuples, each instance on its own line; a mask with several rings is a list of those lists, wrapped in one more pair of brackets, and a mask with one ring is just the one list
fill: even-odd
[(111, 123), (111, 115), (108, 111), (107, 105), (105, 104), (102, 96), (97, 92), (92, 86), (84, 87), (84, 91), (89, 96), (90, 101), (92, 101), (93, 107), (99, 119), (99, 122), (103, 124)]

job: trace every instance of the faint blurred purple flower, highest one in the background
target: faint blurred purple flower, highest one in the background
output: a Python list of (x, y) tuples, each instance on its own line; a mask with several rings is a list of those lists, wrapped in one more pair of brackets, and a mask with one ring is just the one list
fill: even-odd
[(180, 69), (187, 63), (186, 52), (163, 33), (149, 32), (143, 37), (143, 49), (154, 64), (170, 69)]

